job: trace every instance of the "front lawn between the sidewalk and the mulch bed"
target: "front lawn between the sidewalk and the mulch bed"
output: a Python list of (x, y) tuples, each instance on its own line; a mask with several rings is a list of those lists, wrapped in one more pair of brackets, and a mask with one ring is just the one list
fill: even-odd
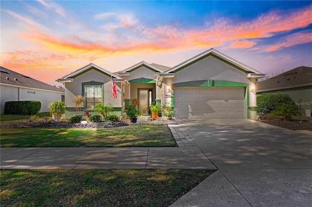
[(167, 125), (114, 128), (1, 128), (1, 147), (176, 147)]

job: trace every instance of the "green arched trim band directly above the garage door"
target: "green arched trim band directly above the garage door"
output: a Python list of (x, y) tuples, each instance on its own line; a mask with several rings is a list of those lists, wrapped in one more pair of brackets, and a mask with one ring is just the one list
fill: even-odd
[(223, 80), (200, 80), (172, 84), (172, 87), (246, 87), (246, 86), (249, 86), (249, 84)]

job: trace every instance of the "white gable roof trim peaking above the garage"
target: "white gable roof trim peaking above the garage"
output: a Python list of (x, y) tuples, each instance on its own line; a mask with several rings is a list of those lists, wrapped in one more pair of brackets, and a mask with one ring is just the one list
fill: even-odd
[(244, 71), (245, 73), (255, 73), (255, 74), (262, 74), (261, 72), (243, 64), (243, 63), (240, 63), (238, 62), (237, 60), (234, 60), (233, 58), (211, 48), (209, 49), (208, 51), (205, 51), (205, 52), (202, 52), (186, 61), (184, 61), (183, 63), (180, 63), (178, 65), (176, 65), (175, 67), (171, 68), (171, 69), (168, 69), (166, 71), (164, 71), (163, 73), (173, 73), (173, 72), (177, 72), (181, 69), (184, 69), (186, 67), (188, 67), (189, 65), (192, 65), (194, 64), (195, 62), (207, 57), (207, 56), (213, 56), (231, 66), (233, 66), (234, 68), (236, 69), (239, 69), (241, 71)]

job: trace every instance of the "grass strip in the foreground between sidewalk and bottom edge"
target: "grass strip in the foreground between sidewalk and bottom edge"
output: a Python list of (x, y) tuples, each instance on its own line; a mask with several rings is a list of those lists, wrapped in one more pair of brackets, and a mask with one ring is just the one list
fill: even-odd
[(0, 200), (8, 206), (162, 207), (213, 171), (1, 170)]

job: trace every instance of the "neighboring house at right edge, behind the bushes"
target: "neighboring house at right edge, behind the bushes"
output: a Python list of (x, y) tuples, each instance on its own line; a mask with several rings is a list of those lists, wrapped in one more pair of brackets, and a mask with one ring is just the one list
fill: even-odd
[(298, 67), (256, 84), (257, 95), (264, 92), (288, 94), (301, 109), (312, 109), (312, 68)]

